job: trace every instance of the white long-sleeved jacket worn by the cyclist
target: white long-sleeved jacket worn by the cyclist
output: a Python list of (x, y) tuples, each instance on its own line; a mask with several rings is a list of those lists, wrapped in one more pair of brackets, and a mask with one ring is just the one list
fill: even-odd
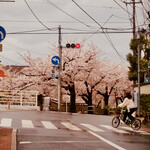
[(123, 103), (119, 104), (118, 106), (119, 107), (127, 107), (128, 111), (130, 111), (131, 108), (135, 108), (135, 104), (132, 101), (132, 99), (128, 99), (128, 98), (125, 98)]

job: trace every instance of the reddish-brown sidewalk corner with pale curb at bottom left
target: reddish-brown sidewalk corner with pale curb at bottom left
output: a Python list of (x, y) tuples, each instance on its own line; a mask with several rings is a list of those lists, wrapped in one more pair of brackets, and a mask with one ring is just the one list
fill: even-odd
[(16, 130), (0, 127), (0, 150), (16, 150)]

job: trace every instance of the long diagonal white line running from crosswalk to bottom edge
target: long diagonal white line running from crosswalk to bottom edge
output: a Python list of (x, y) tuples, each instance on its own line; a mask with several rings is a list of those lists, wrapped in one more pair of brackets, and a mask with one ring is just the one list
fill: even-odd
[(98, 139), (104, 141), (105, 143), (107, 143), (107, 144), (109, 144), (109, 145), (115, 147), (115, 148), (118, 149), (118, 150), (126, 150), (125, 148), (120, 147), (119, 145), (112, 143), (111, 141), (109, 141), (109, 140), (103, 138), (102, 136), (100, 136), (100, 135), (98, 135), (98, 134), (96, 134), (96, 133), (94, 133), (94, 132), (92, 132), (92, 131), (87, 131), (87, 132), (89, 132), (89, 133), (92, 134), (93, 136), (97, 137)]

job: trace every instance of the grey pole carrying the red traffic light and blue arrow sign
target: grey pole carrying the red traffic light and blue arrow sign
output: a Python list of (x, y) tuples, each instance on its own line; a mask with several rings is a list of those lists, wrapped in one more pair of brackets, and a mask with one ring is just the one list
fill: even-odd
[(58, 47), (59, 47), (59, 58), (61, 60), (58, 67), (58, 111), (61, 110), (61, 101), (62, 101), (62, 92), (61, 92), (61, 70), (62, 70), (62, 45), (61, 45), (61, 26), (58, 27), (59, 38), (58, 38)]

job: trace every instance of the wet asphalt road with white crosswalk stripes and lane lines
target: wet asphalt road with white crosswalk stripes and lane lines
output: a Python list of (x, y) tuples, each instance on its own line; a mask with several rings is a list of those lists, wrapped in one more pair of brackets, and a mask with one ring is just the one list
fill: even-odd
[(121, 125), (113, 116), (1, 111), (1, 127), (17, 129), (17, 150), (149, 150), (150, 133)]

